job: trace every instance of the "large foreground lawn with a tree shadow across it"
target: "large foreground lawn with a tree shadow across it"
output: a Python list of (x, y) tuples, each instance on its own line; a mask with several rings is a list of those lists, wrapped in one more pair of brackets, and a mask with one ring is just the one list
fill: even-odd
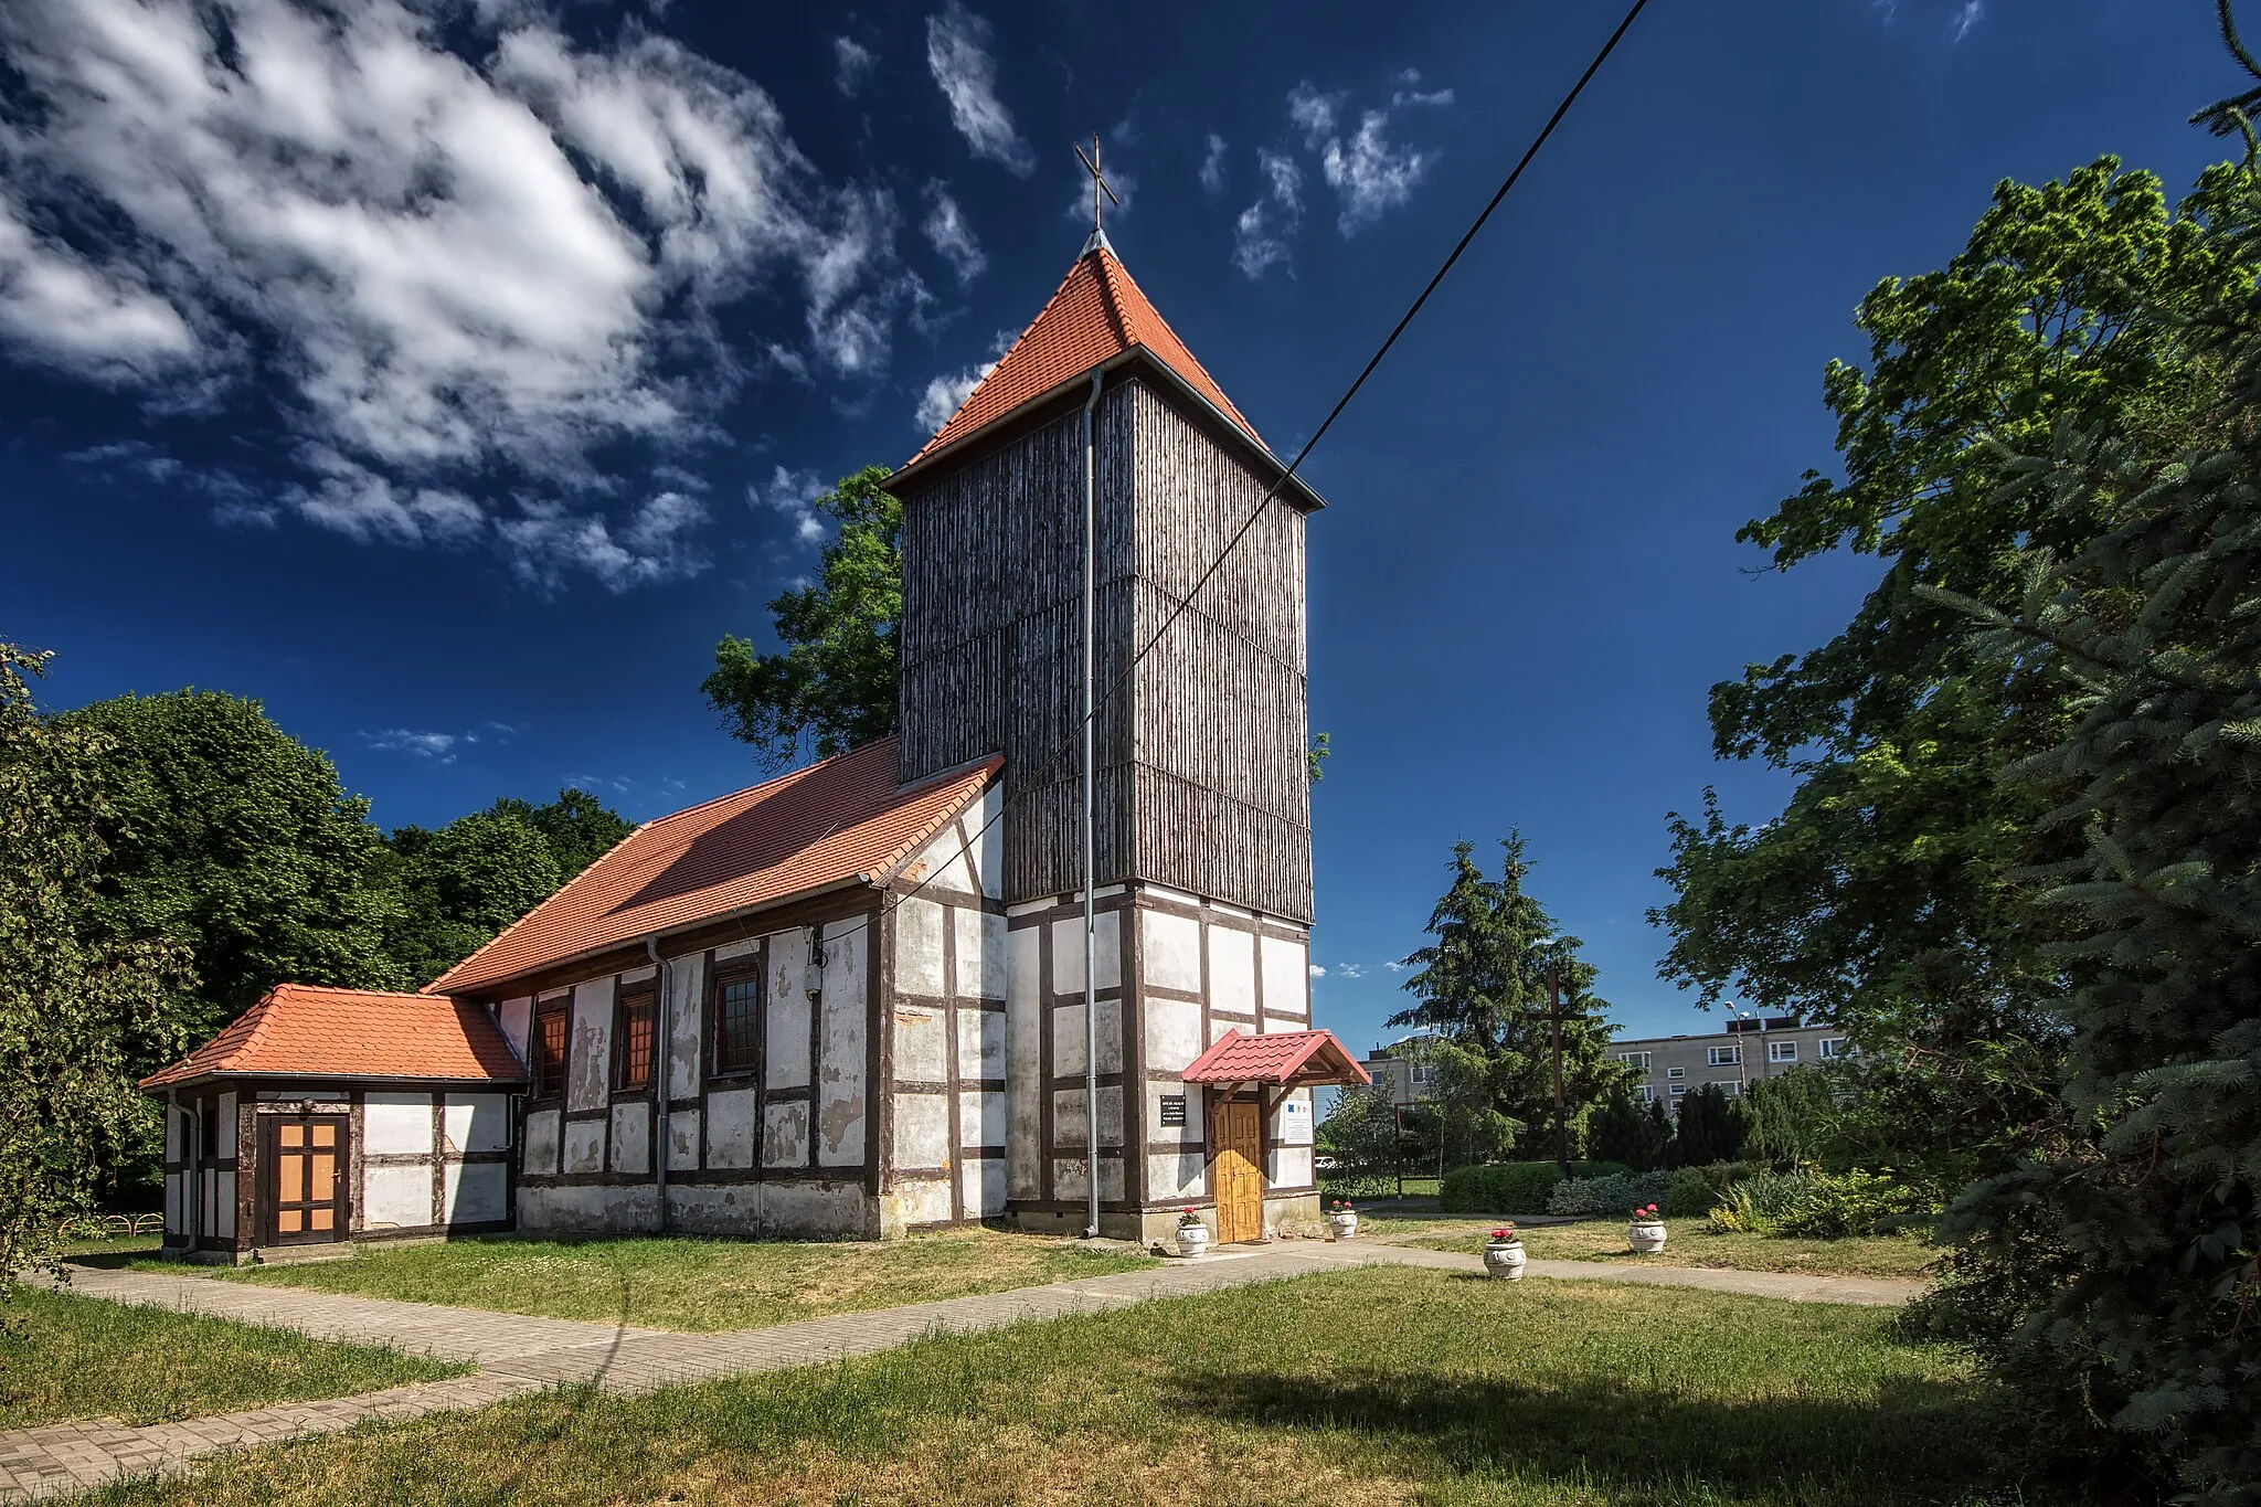
[(543, 1394), (109, 1502), (1960, 1502), (1996, 1403), (1890, 1315), (1368, 1268), (640, 1399)]

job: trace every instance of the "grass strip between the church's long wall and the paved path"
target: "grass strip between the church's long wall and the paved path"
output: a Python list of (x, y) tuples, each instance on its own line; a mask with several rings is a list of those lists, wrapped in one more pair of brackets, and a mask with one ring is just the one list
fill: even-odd
[[(136, 1263), (179, 1274), (170, 1263)], [(1051, 1236), (952, 1229), (909, 1240), (448, 1240), (357, 1247), (346, 1261), (215, 1268), (255, 1281), (357, 1297), (457, 1304), (552, 1319), (649, 1329), (757, 1329), (920, 1304), (934, 1297), (1036, 1288), (1155, 1265), (1151, 1256), (1078, 1249)]]

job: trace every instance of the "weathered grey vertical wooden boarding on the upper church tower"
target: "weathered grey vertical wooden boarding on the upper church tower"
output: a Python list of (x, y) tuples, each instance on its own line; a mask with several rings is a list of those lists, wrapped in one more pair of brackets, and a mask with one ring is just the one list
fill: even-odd
[[(1180, 400), (1106, 389), (1099, 687), (1115, 687), (1264, 497)], [(1083, 886), (1083, 413), (1063, 411), (904, 497), (902, 777), (1004, 752), (1004, 897)], [(1309, 924), (1302, 513), (1284, 502), (1099, 716), (1097, 881), (1153, 881)]]

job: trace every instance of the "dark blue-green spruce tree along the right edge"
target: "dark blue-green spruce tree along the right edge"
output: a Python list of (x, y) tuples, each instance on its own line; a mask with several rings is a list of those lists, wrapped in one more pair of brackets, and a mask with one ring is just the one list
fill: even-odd
[[(2241, 253), (2254, 160), (2216, 208)], [(2069, 931), (2064, 1114), (1956, 1204), (1951, 1317), (2051, 1453), (2261, 1502), (2261, 298), (2152, 300), (2134, 328), (2214, 380), (2204, 423), (2168, 456), (2119, 413), (2006, 436), (2003, 495), (2044, 520), (2019, 592), (1933, 592), (1990, 624), (1994, 673), (2076, 712), (2010, 768), (2060, 834), (2033, 859)]]

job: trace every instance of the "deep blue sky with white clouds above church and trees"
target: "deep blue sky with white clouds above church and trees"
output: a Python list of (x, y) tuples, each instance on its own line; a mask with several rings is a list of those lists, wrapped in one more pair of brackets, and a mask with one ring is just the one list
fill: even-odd
[[(1054, 289), (1069, 140), (1293, 450), (1619, 7), (208, 9), (0, 14), (0, 637), (52, 705), (258, 696), (430, 825), (751, 782), (714, 639)], [(1994, 181), (2220, 154), (2211, 9), (1651, 5), (1309, 463), (1320, 1023), (1381, 1035), (1452, 843), (1515, 825), (1626, 1030), (1705, 1028), (1644, 920), (1664, 813), (1786, 789), (1712, 764), (1705, 691), (1874, 576), (1734, 529), (1829, 465), (1859, 296)]]

